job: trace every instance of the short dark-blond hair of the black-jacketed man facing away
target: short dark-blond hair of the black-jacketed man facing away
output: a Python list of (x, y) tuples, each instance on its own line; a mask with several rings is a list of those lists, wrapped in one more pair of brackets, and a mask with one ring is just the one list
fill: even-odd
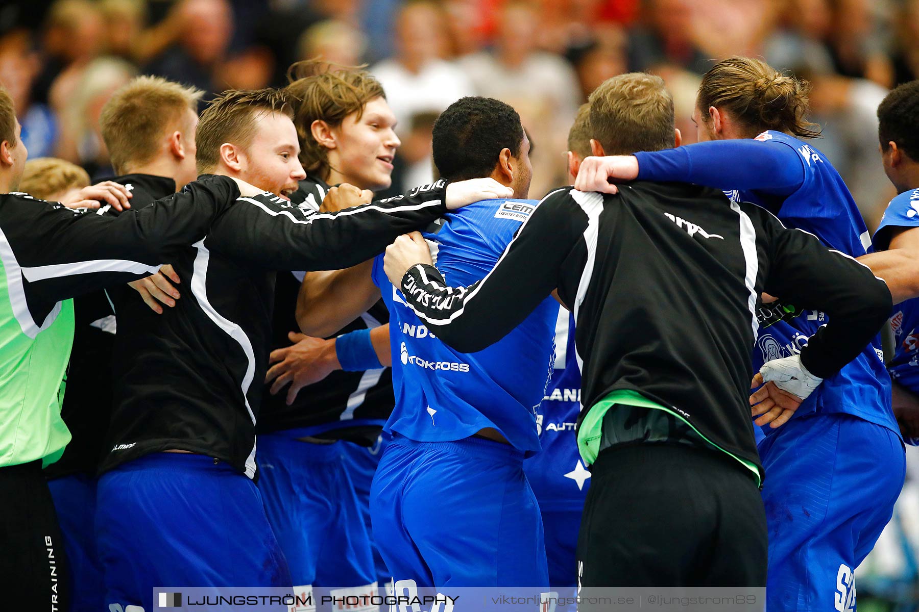
[(607, 155), (675, 145), (674, 98), (659, 76), (619, 74), (600, 84), (587, 102), (591, 132)]

